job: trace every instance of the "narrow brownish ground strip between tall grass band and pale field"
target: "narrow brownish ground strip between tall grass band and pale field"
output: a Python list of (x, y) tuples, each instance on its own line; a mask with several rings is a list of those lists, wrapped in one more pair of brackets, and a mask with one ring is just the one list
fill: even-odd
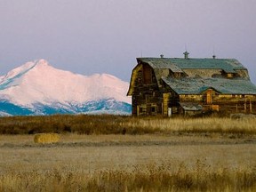
[[(13, 136), (12, 136), (13, 137)], [(70, 136), (72, 137), (72, 136)], [(96, 138), (97, 136), (94, 136)], [(99, 136), (98, 140), (93, 140), (93, 136), (75, 136), (74, 140), (70, 140), (67, 136), (63, 136), (58, 143), (33, 143), (26, 142), (3, 142), (0, 148), (82, 148), (82, 147), (143, 147), (143, 146), (195, 146), (195, 145), (241, 145), (256, 144), (256, 138), (252, 136), (237, 135), (148, 135), (144, 136), (119, 136), (105, 135)]]

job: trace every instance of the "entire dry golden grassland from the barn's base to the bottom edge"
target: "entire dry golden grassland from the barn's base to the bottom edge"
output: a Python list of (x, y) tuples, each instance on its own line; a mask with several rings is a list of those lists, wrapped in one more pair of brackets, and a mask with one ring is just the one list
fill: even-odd
[[(34, 133), (26, 134), (31, 124), (40, 128), (34, 127), (35, 133), (44, 129), (44, 124), (35, 123), (38, 120), (33, 117), (16, 121), (12, 117), (9, 122), (0, 119), (2, 130), (3, 124), (20, 124), (27, 130), (0, 135), (0, 191), (256, 190), (254, 118), (98, 116), (97, 124), (96, 116), (91, 120), (78, 117), (80, 121), (86, 118), (84, 124), (93, 123), (98, 131), (81, 134), (81, 125), (80, 132), (77, 127), (75, 132), (77, 119), (70, 116), (61, 122), (66, 131), (60, 130), (55, 119), (60, 141), (52, 144), (35, 143)], [(46, 127), (50, 126), (47, 121), (53, 122), (51, 116), (35, 118), (46, 122)], [(116, 124), (119, 131), (114, 125), (110, 129), (109, 124)]]

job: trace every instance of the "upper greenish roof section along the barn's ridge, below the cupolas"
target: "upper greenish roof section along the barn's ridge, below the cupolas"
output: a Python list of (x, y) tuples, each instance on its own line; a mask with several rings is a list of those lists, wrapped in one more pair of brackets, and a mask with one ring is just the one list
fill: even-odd
[(137, 58), (137, 60), (148, 63), (152, 68), (170, 68), (173, 72), (194, 68), (223, 69), (227, 73), (236, 73), (236, 69), (246, 69), (235, 59)]

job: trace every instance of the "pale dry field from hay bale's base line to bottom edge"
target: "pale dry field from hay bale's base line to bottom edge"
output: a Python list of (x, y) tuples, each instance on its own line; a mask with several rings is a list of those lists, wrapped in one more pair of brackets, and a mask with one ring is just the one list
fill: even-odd
[[(256, 189), (256, 139), (184, 135), (0, 136), (1, 191)], [(207, 185), (205, 185), (207, 183)]]

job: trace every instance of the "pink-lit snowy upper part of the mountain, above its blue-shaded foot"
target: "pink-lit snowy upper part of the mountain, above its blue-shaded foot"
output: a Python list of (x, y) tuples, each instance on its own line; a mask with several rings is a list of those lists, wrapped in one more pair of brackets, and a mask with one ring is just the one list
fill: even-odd
[(0, 79), (0, 99), (9, 98), (12, 103), (32, 106), (35, 103), (50, 105), (69, 103), (83, 105), (91, 100), (114, 99), (131, 103), (126, 97), (127, 82), (108, 74), (92, 76), (76, 75), (53, 68), (47, 60), (27, 62), (14, 68)]

